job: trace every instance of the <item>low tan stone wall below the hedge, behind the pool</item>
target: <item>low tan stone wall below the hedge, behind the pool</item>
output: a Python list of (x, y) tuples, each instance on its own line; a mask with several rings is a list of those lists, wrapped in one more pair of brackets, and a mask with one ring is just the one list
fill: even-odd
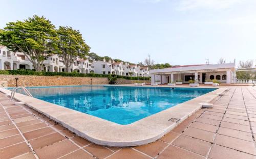
[[(36, 75), (6, 75), (0, 74), (0, 85), (4, 87), (15, 87), (18, 78), (18, 86), (71, 86), (71, 85), (93, 85), (109, 84), (108, 78), (99, 77), (63, 77), (63, 76), (36, 76)], [(117, 79), (119, 84), (134, 84), (134, 80)], [(140, 81), (144, 82), (144, 81)], [(150, 83), (150, 81), (146, 81)]]

